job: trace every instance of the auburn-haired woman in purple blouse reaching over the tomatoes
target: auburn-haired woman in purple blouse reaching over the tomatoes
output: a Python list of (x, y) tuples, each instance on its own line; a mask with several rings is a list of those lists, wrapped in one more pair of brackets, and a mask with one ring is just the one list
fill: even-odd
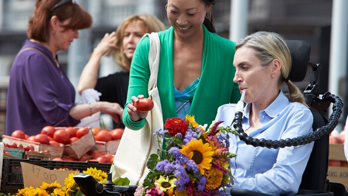
[(59, 65), (56, 53), (67, 50), (79, 29), (90, 27), (91, 16), (72, 0), (36, 0), (24, 46), (10, 70), (6, 135), (20, 129), (35, 135), (44, 126), (74, 126), (102, 111), (117, 119), (118, 103), (75, 103), (75, 89)]

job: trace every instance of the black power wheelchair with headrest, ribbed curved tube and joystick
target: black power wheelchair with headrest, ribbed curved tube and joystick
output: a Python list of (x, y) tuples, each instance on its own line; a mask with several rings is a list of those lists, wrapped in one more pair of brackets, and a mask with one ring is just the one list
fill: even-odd
[[(286, 140), (265, 140), (248, 136), (242, 128), (242, 112), (236, 112), (234, 118), (234, 128), (240, 133), (240, 139), (248, 145), (254, 147), (261, 146), (266, 148), (284, 148), (288, 146), (305, 145), (315, 141), (312, 153), (307, 163), (307, 167), (303, 173), (299, 191), (296, 195), (301, 196), (346, 196), (345, 186), (339, 183), (331, 183), (327, 179), (329, 164), (329, 134), (338, 125), (339, 118), (342, 114), (343, 101), (338, 96), (331, 93), (319, 95), (318, 77), (322, 69), (321, 64), (309, 62), (311, 45), (303, 40), (288, 40), (292, 57), (292, 68), (289, 78), (293, 82), (301, 82), (304, 80), (308, 66), (312, 68), (310, 84), (304, 90), (306, 103), (310, 106), (314, 117), (313, 132), (300, 136), (298, 138), (288, 138)], [(322, 113), (326, 111), (330, 104), (333, 103), (333, 112), (327, 119)], [(119, 196), (133, 195), (136, 186), (113, 186), (111, 175), (108, 175), (108, 181), (102, 184), (90, 175), (78, 174), (74, 176), (74, 180), (82, 190), (85, 196)], [(262, 194), (249, 190), (226, 189), (227, 195), (232, 196), (273, 196), (270, 194)]]

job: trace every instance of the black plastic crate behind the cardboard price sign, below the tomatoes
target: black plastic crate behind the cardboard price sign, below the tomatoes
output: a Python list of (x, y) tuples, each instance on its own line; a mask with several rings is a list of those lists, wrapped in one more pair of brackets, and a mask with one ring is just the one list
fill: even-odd
[(22, 167), (20, 162), (30, 163), (50, 170), (59, 168), (68, 168), (79, 170), (80, 172), (87, 168), (96, 168), (109, 173), (110, 163), (98, 163), (95, 161), (77, 162), (77, 161), (48, 161), (41, 159), (7, 159), (2, 160), (1, 192), (17, 193), (18, 189), (23, 189)]

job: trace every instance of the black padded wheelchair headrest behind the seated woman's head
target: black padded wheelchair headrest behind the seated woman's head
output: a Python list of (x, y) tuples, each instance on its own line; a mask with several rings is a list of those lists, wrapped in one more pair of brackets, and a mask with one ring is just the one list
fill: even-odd
[(287, 40), (286, 43), (290, 49), (292, 58), (289, 79), (292, 82), (301, 82), (306, 76), (311, 44), (304, 40)]

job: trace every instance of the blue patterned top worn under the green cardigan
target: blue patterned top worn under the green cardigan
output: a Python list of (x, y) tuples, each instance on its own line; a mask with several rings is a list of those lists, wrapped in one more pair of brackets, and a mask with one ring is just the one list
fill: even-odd
[(188, 85), (182, 92), (179, 92), (174, 87), (174, 99), (177, 117), (185, 120), (186, 114), (188, 114), (194, 93), (196, 92), (200, 77)]

